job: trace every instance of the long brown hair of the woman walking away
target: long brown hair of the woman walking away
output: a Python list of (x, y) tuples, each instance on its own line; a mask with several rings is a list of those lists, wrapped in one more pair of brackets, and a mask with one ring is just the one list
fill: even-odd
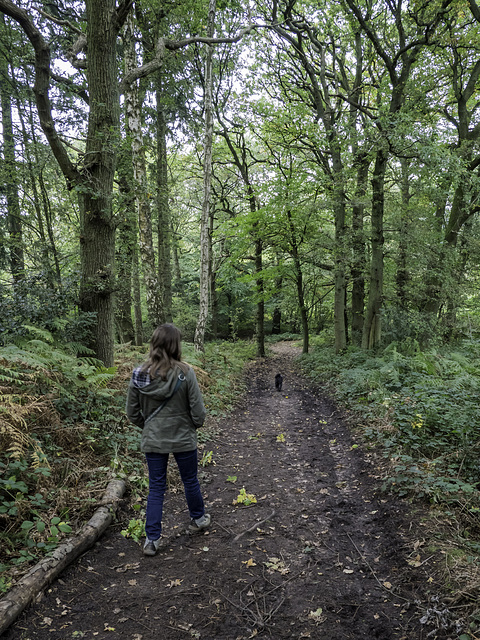
[(150, 352), (142, 371), (148, 371), (152, 378), (166, 378), (170, 369), (180, 367), (187, 373), (188, 365), (182, 362), (182, 335), (174, 324), (161, 324), (153, 332)]

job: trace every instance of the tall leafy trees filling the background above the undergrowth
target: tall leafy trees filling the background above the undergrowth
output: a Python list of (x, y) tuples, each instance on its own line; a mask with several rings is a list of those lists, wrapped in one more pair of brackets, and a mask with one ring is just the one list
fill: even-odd
[(475, 0), (0, 10), (4, 345), (476, 331)]

